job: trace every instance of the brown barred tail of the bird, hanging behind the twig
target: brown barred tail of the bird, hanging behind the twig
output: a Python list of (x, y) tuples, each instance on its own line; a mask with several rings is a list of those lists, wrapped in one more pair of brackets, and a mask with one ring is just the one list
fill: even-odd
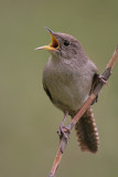
[(99, 146), (99, 136), (92, 108), (75, 125), (79, 147), (83, 152), (96, 153)]

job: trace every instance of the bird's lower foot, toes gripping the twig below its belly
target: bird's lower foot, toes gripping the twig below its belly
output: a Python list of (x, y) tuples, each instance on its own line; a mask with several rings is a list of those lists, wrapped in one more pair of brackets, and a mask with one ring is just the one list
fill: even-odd
[(68, 135), (71, 133), (71, 128), (68, 126), (64, 126), (63, 124), (60, 126), (57, 134), (60, 136), (60, 139), (63, 137), (68, 140)]

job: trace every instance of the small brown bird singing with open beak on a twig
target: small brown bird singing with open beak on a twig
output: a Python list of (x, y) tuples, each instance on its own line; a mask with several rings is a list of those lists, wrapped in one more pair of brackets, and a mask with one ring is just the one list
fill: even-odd
[[(66, 33), (53, 32), (49, 28), (46, 30), (52, 37), (51, 44), (35, 50), (45, 49), (51, 53), (43, 72), (43, 87), (52, 103), (64, 113), (58, 134), (66, 137), (64, 122), (67, 115), (73, 118), (88, 98), (98, 71), (78, 40)], [(81, 149), (96, 153), (99, 137), (90, 107), (77, 122), (75, 129)]]

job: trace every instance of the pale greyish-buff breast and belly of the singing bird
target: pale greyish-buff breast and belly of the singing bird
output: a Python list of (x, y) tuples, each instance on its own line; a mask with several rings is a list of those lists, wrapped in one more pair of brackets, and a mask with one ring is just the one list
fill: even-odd
[(79, 67), (61, 62), (55, 64), (50, 60), (43, 72), (43, 83), (56, 107), (77, 111), (88, 98), (94, 74), (89, 65)]

